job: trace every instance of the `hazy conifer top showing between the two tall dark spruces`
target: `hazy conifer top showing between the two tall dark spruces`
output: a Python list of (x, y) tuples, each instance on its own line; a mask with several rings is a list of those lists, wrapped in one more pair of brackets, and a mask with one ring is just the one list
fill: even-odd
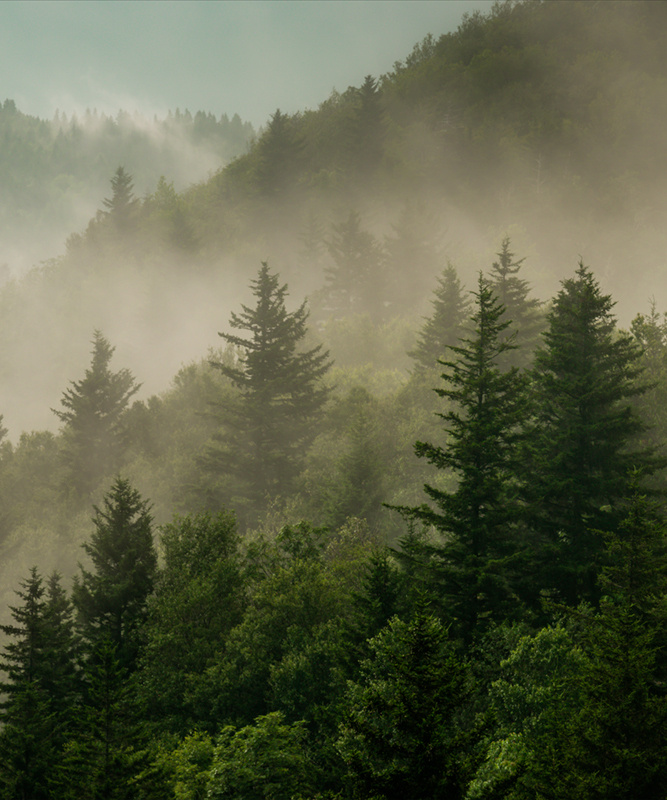
[(540, 304), (529, 298), (528, 282), (519, 277), (519, 270), (525, 261), (514, 260), (510, 252), (509, 236), (506, 236), (498, 253), (498, 261), (491, 267), (490, 283), (496, 296), (505, 307), (505, 319), (511, 320), (512, 330), (516, 334), (516, 348), (506, 354), (510, 366), (527, 367), (537, 347), (539, 333), (542, 329)]

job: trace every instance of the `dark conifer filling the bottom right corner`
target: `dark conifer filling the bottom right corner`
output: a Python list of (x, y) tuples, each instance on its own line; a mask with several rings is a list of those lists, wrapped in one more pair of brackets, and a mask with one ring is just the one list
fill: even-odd
[(667, 794), (667, 551), (655, 505), (632, 496), (605, 538), (600, 613), (585, 631), (579, 713), (561, 742), (559, 797), (662, 800)]

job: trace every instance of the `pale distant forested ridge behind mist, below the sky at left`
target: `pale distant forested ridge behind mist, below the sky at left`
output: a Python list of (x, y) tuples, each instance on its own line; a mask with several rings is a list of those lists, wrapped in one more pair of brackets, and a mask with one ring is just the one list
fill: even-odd
[(51, 120), (0, 103), (0, 265), (2, 280), (64, 251), (65, 239), (85, 225), (119, 164), (132, 164), (138, 192), (160, 175), (179, 189), (216, 172), (244, 153), (254, 138), (234, 115), (198, 111), (148, 119), (90, 109)]

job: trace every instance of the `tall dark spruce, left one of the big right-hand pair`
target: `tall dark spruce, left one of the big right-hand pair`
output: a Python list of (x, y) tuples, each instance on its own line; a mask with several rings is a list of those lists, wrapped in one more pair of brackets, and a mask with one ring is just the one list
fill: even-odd
[(455, 361), (441, 361), (445, 388), (437, 394), (451, 403), (439, 416), (447, 423), (449, 441), (417, 442), (415, 451), (439, 470), (458, 479), (453, 491), (426, 484), (435, 508), (402, 507), (409, 519), (433, 526), (443, 541), (431, 549), (440, 591), (456, 631), (470, 640), (493, 618), (520, 613), (517, 599), (520, 510), (517, 471), (526, 382), (516, 368), (503, 372), (500, 357), (513, 345), (505, 337), (509, 321), (503, 306), (480, 273), (473, 293), (474, 331), (457, 347)]

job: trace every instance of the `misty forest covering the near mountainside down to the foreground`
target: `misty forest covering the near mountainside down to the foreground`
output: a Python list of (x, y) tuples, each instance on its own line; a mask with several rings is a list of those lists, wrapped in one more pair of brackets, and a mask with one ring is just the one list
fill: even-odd
[(666, 32), (499, 2), (189, 184), (4, 102), (106, 185), (0, 286), (0, 800), (667, 798)]

